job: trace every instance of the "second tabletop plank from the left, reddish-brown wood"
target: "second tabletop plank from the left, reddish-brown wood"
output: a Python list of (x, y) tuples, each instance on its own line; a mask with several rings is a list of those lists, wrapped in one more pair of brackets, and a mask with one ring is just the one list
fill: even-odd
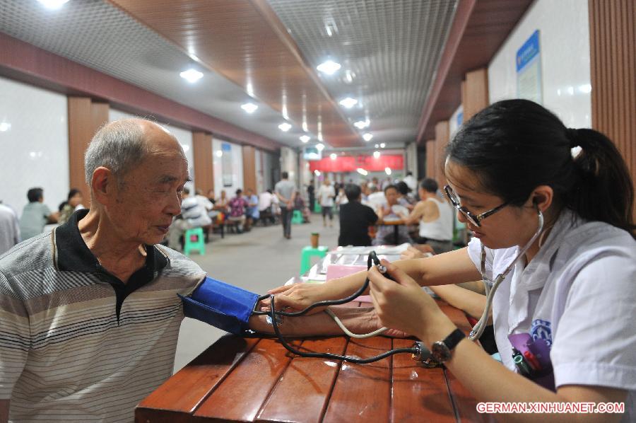
[[(298, 347), (300, 342), (293, 344)], [(194, 416), (252, 422), (290, 361), (290, 353), (278, 341), (262, 339)]]

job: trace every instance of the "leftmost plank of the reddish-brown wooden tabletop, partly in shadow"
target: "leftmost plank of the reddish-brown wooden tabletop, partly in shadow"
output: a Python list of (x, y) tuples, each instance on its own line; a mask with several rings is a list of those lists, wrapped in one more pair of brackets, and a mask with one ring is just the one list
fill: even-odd
[[(199, 402), (223, 381), (258, 342), (259, 338), (225, 336), (148, 395), (135, 410), (139, 422), (174, 421), (175, 415), (189, 415)], [(165, 413), (163, 413), (165, 411)], [(158, 417), (171, 411), (171, 419)]]

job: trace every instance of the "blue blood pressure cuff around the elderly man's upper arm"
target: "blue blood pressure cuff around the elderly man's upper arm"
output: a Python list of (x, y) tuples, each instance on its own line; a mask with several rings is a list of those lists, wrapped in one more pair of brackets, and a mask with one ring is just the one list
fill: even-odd
[[(179, 294), (177, 294), (179, 295)], [(206, 277), (189, 296), (179, 295), (186, 317), (201, 320), (215, 328), (242, 335), (249, 329), (247, 321), (252, 315), (259, 296)]]

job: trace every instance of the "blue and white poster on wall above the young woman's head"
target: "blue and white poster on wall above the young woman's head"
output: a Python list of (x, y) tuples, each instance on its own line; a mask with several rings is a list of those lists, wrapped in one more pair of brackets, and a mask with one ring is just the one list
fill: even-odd
[(526, 98), (541, 104), (543, 95), (538, 36), (538, 30), (534, 31), (524, 45), (517, 50), (517, 98)]

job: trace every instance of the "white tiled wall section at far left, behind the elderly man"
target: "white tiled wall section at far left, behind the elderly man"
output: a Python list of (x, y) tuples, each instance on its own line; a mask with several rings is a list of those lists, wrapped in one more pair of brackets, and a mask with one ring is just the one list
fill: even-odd
[(4, 78), (0, 93), (0, 199), (20, 215), (28, 189), (42, 187), (57, 210), (69, 194), (66, 96)]

